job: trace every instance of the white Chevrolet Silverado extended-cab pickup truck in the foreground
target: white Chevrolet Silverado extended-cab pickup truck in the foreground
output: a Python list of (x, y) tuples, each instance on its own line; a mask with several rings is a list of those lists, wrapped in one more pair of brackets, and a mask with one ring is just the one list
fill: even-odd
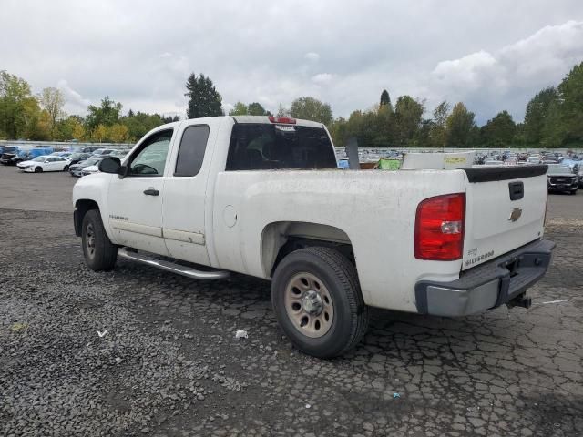
[(555, 246), (547, 166), (342, 170), (322, 124), (288, 117), (170, 123), (99, 169), (73, 189), (90, 269), (270, 279), (282, 330), (318, 357), (361, 340), (369, 307), (528, 307)]

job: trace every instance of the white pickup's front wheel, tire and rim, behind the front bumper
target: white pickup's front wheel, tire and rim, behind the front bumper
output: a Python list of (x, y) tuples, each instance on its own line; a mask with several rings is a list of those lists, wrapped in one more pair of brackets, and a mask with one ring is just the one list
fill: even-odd
[(111, 270), (118, 259), (118, 248), (114, 246), (101, 221), (97, 209), (90, 209), (83, 218), (81, 232), (83, 256), (89, 269), (94, 271)]

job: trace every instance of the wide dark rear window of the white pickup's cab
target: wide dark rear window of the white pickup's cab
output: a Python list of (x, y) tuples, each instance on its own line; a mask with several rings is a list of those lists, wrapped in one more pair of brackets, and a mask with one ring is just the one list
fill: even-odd
[(336, 168), (336, 157), (322, 127), (238, 124), (230, 136), (228, 171)]

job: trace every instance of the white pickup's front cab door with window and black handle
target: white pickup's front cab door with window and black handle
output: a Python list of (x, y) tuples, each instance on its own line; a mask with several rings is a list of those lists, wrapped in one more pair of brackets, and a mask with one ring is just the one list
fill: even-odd
[(125, 163), (125, 174), (111, 178), (107, 222), (118, 244), (168, 255), (162, 237), (162, 198), (174, 133), (165, 128), (146, 137)]

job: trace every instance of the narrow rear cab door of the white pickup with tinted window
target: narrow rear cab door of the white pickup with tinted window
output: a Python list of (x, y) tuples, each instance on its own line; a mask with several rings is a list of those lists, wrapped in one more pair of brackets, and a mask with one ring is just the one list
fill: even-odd
[(172, 258), (210, 265), (205, 235), (210, 147), (219, 125), (184, 123), (176, 139), (162, 206), (163, 234)]

